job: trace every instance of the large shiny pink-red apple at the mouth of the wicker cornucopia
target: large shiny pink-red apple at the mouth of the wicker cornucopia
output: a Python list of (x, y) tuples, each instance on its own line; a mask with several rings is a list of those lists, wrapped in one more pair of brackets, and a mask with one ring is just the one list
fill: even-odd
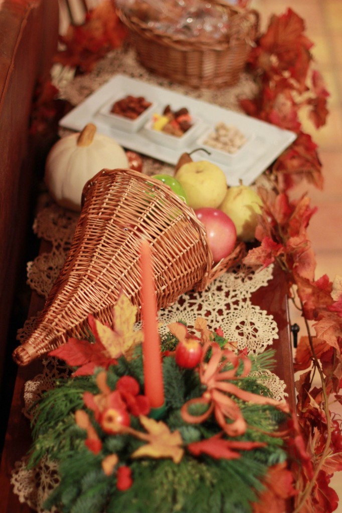
[(217, 208), (199, 208), (195, 214), (205, 226), (214, 263), (228, 257), (236, 245), (236, 228), (231, 218)]

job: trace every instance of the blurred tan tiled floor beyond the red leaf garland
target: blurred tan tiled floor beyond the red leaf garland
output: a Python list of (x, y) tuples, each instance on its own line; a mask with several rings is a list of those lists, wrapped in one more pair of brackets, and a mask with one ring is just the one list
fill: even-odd
[[(318, 210), (311, 219), (309, 236), (316, 253), (316, 278), (328, 274), (333, 280), (342, 275), (342, 0), (252, 0), (252, 7), (261, 13), (261, 27), (268, 25), (270, 14), (282, 14), (291, 7), (306, 22), (306, 32), (314, 43), (315, 66), (325, 78), (331, 94), (327, 125), (315, 130), (306, 120), (303, 129), (318, 144), (324, 189), (302, 185), (293, 191), (298, 198), (308, 191), (311, 205)], [(292, 322), (302, 324), (291, 310)], [(302, 329), (303, 331), (303, 329)], [(342, 408), (336, 408), (342, 416)], [(340, 497), (336, 510), (342, 512), (342, 472), (337, 472), (331, 485)]]

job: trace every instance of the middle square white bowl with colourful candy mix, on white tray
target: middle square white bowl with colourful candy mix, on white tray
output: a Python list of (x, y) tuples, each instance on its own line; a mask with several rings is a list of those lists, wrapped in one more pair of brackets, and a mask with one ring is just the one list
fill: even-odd
[(154, 113), (145, 124), (148, 138), (160, 146), (179, 149), (195, 140), (201, 126), (200, 120), (182, 107), (172, 110), (167, 105), (161, 113)]

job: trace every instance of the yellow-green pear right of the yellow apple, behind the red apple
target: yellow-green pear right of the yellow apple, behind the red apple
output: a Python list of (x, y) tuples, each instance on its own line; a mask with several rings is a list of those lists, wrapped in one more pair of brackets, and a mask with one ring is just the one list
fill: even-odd
[(237, 185), (229, 187), (219, 209), (235, 224), (237, 238), (250, 242), (254, 240), (261, 207), (261, 198), (254, 189), (246, 185)]

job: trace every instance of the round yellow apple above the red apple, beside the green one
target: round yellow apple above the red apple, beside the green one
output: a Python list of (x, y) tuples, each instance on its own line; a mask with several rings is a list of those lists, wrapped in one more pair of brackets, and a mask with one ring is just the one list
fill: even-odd
[(218, 208), (227, 191), (224, 172), (208, 161), (187, 162), (175, 174), (187, 196), (187, 204), (194, 210)]

